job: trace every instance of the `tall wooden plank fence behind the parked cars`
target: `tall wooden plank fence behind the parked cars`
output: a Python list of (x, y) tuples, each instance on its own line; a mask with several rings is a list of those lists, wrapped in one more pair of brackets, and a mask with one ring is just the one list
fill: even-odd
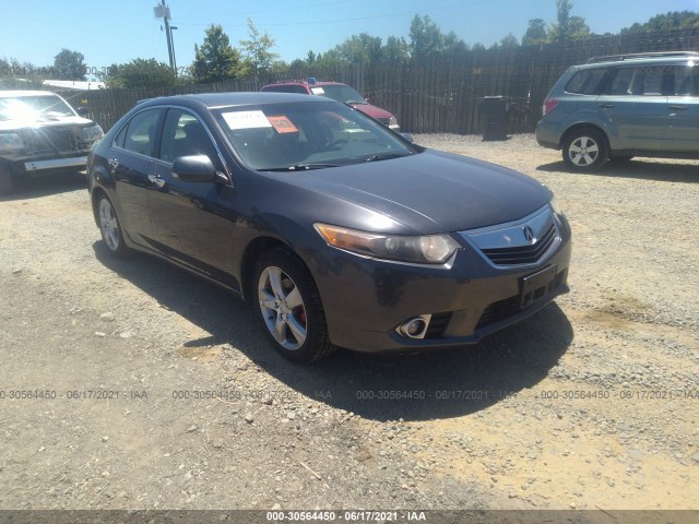
[(697, 29), (597, 36), (574, 43), (470, 51), (451, 60), (411, 60), (329, 69), (307, 67), (291, 72), (286, 79), (61, 94), (74, 106), (87, 106), (93, 119), (108, 129), (142, 98), (181, 93), (259, 91), (274, 80), (315, 76), (353, 85), (372, 104), (393, 112), (404, 131), (414, 133), (479, 133), (481, 99), (488, 95), (508, 96), (512, 99), (508, 130), (520, 133), (534, 130), (548, 90), (573, 64), (596, 56), (689, 49), (699, 50)]

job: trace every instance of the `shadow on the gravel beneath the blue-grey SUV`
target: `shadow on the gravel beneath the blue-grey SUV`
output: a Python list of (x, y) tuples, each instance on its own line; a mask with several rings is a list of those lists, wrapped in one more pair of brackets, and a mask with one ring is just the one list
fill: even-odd
[[(596, 172), (585, 175), (597, 175), (600, 177), (623, 177), (636, 178), (638, 180), (656, 180), (659, 182), (685, 182), (699, 183), (699, 163), (689, 164), (663, 164), (659, 162), (629, 160), (621, 164), (608, 164)], [(568, 166), (561, 162), (543, 164), (536, 167), (540, 171), (547, 172), (570, 172)]]

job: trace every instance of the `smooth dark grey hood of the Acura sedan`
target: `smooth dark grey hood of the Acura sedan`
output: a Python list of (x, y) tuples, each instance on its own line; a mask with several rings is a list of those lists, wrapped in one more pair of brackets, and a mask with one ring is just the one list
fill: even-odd
[[(552, 198), (545, 186), (525, 175), (431, 150), (403, 158), (306, 171), (293, 180), (291, 183), (305, 189), (378, 212), (401, 224), (405, 233), (420, 235), (516, 221)], [(342, 206), (337, 216), (327, 219), (346, 227), (366, 224), (364, 217), (346, 213)]]

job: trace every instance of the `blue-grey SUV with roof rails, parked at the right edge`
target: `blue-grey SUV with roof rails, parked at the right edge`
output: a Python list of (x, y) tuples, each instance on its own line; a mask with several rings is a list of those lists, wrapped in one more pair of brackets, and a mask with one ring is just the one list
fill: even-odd
[(633, 156), (699, 158), (699, 52), (592, 58), (550, 90), (536, 141), (577, 171)]

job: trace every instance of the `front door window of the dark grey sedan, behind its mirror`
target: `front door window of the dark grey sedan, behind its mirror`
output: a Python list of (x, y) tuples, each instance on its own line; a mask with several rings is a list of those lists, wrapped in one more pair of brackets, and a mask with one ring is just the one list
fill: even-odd
[(171, 163), (177, 157), (188, 155), (206, 155), (215, 160), (217, 153), (197, 117), (183, 109), (168, 109), (158, 157)]

